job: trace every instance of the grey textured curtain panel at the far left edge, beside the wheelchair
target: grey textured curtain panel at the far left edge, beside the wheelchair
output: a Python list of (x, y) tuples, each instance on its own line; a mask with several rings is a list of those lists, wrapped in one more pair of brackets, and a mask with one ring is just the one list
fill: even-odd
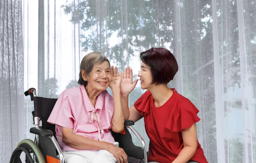
[(0, 1), (0, 156), (8, 162), (10, 154), (25, 135), (23, 106), (24, 47), (21, 0)]

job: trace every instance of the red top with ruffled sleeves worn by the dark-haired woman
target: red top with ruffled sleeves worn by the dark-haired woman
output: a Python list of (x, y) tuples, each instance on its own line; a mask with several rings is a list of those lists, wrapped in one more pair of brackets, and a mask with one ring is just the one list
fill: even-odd
[[(193, 103), (178, 94), (175, 89), (172, 90), (172, 96), (160, 107), (154, 106), (154, 99), (149, 91), (134, 103), (134, 107), (144, 117), (145, 130), (150, 140), (148, 161), (174, 161), (183, 149), (181, 132), (200, 120), (197, 116), (199, 111)], [(208, 163), (199, 142), (190, 160)]]

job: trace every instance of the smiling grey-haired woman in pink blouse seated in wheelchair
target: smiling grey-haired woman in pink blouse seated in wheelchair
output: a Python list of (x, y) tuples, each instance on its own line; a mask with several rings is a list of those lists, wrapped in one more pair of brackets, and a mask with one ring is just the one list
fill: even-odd
[(80, 86), (62, 92), (48, 119), (56, 125), (66, 163), (127, 163), (127, 155), (110, 131), (122, 132), (124, 127), (120, 81), (117, 67), (110, 67), (105, 55), (84, 56)]

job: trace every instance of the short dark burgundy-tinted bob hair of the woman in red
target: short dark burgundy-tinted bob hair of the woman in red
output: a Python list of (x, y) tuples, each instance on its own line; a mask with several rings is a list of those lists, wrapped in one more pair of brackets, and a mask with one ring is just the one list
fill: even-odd
[(140, 59), (151, 68), (151, 84), (169, 83), (178, 71), (174, 55), (165, 48), (151, 48), (140, 53)]

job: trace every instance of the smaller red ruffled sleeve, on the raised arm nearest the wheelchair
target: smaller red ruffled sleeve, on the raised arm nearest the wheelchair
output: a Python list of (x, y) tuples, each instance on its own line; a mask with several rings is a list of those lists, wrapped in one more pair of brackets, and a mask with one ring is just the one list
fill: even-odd
[(151, 93), (150, 91), (146, 91), (135, 103), (134, 107), (137, 109), (140, 114), (146, 116), (149, 114), (150, 110), (150, 100), (151, 100)]

